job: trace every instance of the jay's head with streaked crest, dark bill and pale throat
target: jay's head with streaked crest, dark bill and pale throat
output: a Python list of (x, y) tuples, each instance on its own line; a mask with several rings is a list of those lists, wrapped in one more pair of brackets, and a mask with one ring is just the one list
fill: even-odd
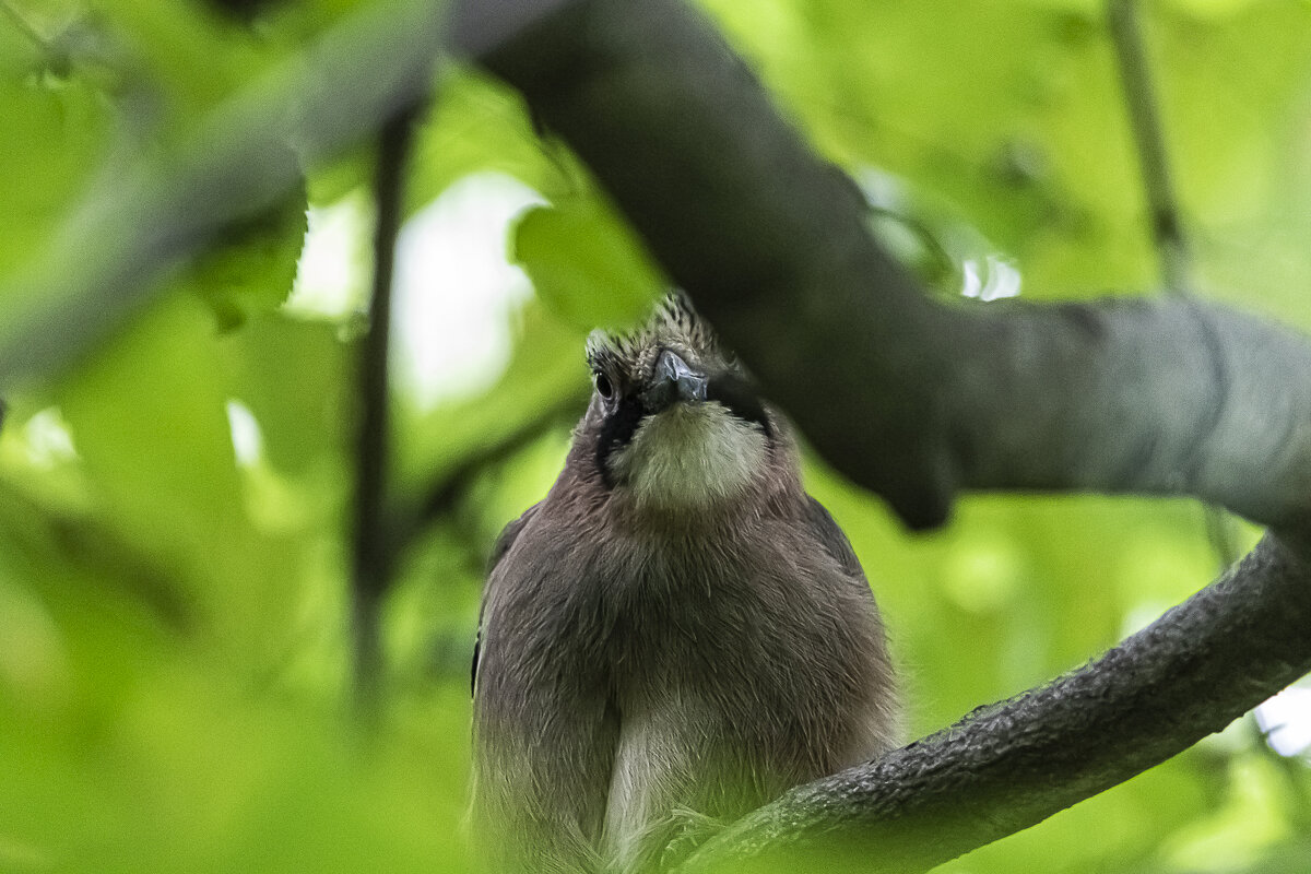
[(631, 334), (594, 332), (587, 363), (581, 461), (636, 507), (713, 508), (784, 463), (781, 419), (682, 295)]

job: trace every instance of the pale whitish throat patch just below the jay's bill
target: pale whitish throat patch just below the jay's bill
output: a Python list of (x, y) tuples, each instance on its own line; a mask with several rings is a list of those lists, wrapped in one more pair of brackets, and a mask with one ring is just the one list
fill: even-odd
[(644, 419), (612, 466), (638, 507), (694, 510), (742, 495), (767, 455), (762, 428), (720, 404), (676, 404)]

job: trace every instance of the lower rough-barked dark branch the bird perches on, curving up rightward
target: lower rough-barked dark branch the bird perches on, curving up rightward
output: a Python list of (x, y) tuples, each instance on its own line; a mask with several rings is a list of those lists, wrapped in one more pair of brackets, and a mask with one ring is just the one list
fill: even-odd
[(1164, 761), (1311, 670), (1307, 554), (1268, 536), (1100, 659), (788, 793), (686, 870), (805, 870), (780, 862), (822, 846), (825, 870), (927, 871)]

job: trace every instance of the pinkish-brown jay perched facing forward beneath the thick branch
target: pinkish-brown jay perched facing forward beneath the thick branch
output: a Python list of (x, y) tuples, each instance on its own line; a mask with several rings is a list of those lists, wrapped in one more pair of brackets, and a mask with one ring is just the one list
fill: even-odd
[(791, 425), (682, 292), (594, 332), (558, 478), (492, 550), (469, 823), (496, 874), (646, 874), (897, 744), (898, 683)]

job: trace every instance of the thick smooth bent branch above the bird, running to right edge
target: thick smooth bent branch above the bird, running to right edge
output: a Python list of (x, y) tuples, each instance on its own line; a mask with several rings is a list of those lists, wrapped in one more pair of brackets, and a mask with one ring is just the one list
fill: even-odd
[[(848, 180), (675, 0), (572, 4), (488, 58), (839, 470), (909, 524), (973, 489), (1311, 510), (1311, 343), (1192, 300), (931, 301)], [(871, 390), (871, 387), (876, 387)]]

